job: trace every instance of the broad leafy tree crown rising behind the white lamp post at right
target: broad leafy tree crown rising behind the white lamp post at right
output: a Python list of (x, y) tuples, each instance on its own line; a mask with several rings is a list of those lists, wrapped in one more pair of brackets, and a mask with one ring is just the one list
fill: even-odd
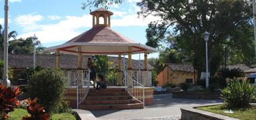
[[(213, 75), (222, 59), (223, 46), (237, 39), (238, 29), (248, 31), (253, 17), (252, 4), (248, 0), (142, 0), (139, 15), (153, 15), (161, 18), (149, 24), (147, 45), (158, 47), (166, 37), (176, 37), (178, 47), (192, 58), (194, 68), (204, 71), (205, 41), (202, 37), (208, 31), (210, 41), (209, 64)], [(245, 38), (244, 35), (238, 35)], [(239, 45), (235, 45), (239, 46)]]

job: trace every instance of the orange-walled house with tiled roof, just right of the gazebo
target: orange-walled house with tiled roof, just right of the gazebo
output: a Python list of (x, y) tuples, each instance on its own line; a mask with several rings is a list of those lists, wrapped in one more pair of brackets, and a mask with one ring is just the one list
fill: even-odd
[(158, 85), (167, 83), (179, 85), (180, 83), (194, 83), (197, 73), (192, 64), (170, 63), (157, 75)]

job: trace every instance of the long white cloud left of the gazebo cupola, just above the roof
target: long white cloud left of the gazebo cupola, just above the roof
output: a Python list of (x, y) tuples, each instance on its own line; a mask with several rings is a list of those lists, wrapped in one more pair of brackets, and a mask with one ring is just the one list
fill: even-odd
[[(91, 15), (81, 17), (66, 16), (64, 20), (56, 24), (36, 24), (29, 32), (21, 34), (19, 37), (30, 37), (36, 34), (42, 43), (52, 43), (58, 41), (68, 41), (80, 34), (78, 29), (92, 26)], [(24, 28), (25, 29), (25, 28)]]

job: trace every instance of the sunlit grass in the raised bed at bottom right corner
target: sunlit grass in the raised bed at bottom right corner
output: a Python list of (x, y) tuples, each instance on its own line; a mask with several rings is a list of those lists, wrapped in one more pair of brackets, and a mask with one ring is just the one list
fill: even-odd
[(243, 109), (232, 109), (232, 111), (235, 111), (235, 113), (224, 113), (224, 111), (229, 111), (230, 109), (226, 109), (224, 105), (214, 105), (214, 106), (208, 106), (208, 107), (197, 107), (196, 109), (200, 109), (203, 111), (209, 111), (211, 113), (217, 113), (220, 115), (225, 115), (229, 117), (235, 117), (238, 119), (256, 119), (256, 106), (252, 106), (249, 108), (243, 108)]

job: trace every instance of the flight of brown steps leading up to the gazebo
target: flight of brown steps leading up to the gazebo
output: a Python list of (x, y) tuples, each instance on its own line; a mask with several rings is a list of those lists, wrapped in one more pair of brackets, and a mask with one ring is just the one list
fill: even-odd
[(79, 109), (143, 109), (143, 103), (133, 99), (124, 88), (90, 89)]

